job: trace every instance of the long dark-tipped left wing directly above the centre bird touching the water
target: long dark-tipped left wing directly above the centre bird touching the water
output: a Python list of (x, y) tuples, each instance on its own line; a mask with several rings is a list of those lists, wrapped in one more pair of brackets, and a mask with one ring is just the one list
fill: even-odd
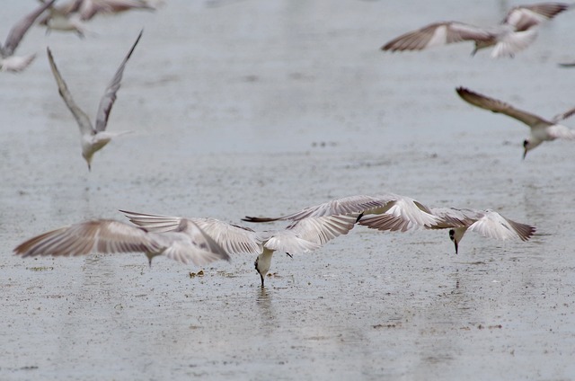
[(249, 217), (246, 216), (243, 221), (249, 222), (270, 222), (270, 221), (299, 221), (308, 217), (322, 217), (334, 215), (346, 215), (354, 213), (363, 213), (372, 208), (379, 208), (380, 202), (371, 196), (357, 195), (342, 197), (340, 199), (332, 199), (324, 202), (323, 204), (315, 205), (297, 211), (284, 217)]

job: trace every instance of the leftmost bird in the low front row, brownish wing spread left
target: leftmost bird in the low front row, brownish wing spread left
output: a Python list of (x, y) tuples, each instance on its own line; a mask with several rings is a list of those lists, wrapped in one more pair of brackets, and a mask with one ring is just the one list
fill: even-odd
[(146, 254), (150, 266), (157, 255), (196, 265), (230, 260), (226, 251), (190, 220), (181, 220), (167, 233), (149, 232), (111, 219), (84, 221), (35, 236), (14, 249), (22, 257), (139, 252)]

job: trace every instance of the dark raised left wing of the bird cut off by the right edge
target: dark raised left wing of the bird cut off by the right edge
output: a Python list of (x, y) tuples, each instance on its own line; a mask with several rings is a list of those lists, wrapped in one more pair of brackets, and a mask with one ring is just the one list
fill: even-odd
[(544, 120), (535, 114), (516, 109), (509, 103), (498, 101), (480, 93), (475, 93), (464, 87), (457, 87), (456, 92), (465, 102), (471, 103), (473, 106), (477, 106), (492, 112), (505, 114), (513, 119), (522, 121), (529, 127), (534, 127), (536, 125), (553, 125), (553, 122)]

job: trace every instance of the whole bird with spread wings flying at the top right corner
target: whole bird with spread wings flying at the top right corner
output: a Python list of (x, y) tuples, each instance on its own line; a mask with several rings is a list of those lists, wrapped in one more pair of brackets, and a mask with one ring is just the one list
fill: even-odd
[(541, 3), (513, 7), (499, 25), (482, 28), (464, 22), (435, 22), (387, 42), (381, 49), (421, 50), (461, 41), (474, 41), (478, 50), (494, 47), (491, 58), (514, 57), (536, 38), (535, 26), (551, 20), (570, 7), (563, 3)]

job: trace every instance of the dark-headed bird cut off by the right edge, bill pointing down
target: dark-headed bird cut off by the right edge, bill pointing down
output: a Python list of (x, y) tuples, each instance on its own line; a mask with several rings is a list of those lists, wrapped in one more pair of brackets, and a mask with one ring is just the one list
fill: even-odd
[(456, 92), (465, 102), (482, 109), (500, 112), (511, 118), (522, 121), (531, 128), (531, 135), (523, 141), (523, 158), (527, 152), (539, 146), (544, 141), (555, 140), (556, 138), (575, 139), (575, 130), (559, 124), (575, 113), (575, 108), (556, 115), (552, 120), (545, 120), (540, 116), (527, 111), (522, 111), (511, 106), (509, 103), (501, 102), (496, 99), (487, 97), (480, 93), (475, 93), (464, 87), (457, 87)]

